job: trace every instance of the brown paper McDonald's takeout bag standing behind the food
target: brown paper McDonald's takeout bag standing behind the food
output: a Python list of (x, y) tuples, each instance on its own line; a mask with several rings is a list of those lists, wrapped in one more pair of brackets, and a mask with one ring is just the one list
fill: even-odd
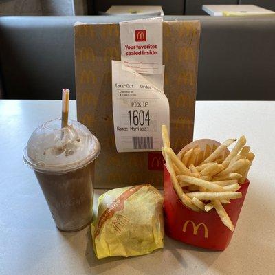
[[(170, 140), (179, 151), (192, 141), (199, 21), (162, 23), (164, 93), (170, 104)], [(78, 121), (94, 132), (102, 151), (96, 162), (96, 188), (150, 183), (163, 186), (160, 151), (118, 153), (112, 109), (111, 61), (120, 61), (118, 23), (76, 24), (74, 27)], [(160, 150), (160, 148), (159, 148)]]

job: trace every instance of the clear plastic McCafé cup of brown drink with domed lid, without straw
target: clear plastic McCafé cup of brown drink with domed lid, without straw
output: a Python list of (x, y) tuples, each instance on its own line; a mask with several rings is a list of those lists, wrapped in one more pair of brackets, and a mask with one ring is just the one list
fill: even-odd
[(61, 119), (50, 120), (32, 133), (23, 159), (34, 170), (58, 229), (74, 232), (91, 222), (99, 153), (98, 139), (74, 120), (64, 128)]

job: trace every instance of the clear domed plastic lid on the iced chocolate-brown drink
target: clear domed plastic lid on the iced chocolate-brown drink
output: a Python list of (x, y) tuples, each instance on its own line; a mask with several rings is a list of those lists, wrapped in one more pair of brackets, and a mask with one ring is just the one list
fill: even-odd
[(89, 164), (99, 153), (100, 143), (86, 126), (69, 120), (68, 126), (61, 128), (61, 119), (55, 119), (32, 133), (23, 157), (36, 171), (64, 173)]

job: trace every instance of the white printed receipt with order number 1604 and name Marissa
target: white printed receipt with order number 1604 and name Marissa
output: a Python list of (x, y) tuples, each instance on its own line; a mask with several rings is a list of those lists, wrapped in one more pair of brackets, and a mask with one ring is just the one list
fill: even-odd
[(162, 74), (142, 75), (112, 61), (112, 93), (117, 151), (161, 151), (161, 125), (170, 125), (164, 66)]

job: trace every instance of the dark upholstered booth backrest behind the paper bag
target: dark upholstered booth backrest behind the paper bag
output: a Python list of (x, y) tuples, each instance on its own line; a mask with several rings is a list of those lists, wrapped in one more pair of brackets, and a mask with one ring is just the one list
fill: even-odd
[[(58, 99), (74, 81), (74, 23), (131, 17), (0, 17), (4, 98)], [(275, 100), (275, 17), (185, 17), (200, 20), (197, 100)]]

